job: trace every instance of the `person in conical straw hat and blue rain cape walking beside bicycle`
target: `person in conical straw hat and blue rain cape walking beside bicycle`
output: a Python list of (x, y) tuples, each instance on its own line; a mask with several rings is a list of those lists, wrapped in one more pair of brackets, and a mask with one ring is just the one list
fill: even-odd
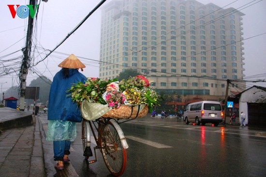
[(69, 162), (71, 142), (76, 138), (76, 123), (82, 121), (77, 104), (66, 91), (73, 83), (85, 82), (87, 78), (78, 71), (85, 68), (79, 59), (71, 54), (59, 64), (62, 69), (56, 73), (50, 88), (48, 105), (47, 141), (53, 141), (54, 161), (57, 170), (64, 169), (64, 162)]

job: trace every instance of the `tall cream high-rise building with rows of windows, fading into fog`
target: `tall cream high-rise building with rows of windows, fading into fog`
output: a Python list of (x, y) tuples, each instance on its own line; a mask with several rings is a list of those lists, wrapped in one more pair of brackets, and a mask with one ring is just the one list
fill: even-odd
[(196, 0), (112, 0), (102, 8), (99, 77), (133, 68), (158, 92), (224, 97), (226, 80), (244, 77), (243, 15)]

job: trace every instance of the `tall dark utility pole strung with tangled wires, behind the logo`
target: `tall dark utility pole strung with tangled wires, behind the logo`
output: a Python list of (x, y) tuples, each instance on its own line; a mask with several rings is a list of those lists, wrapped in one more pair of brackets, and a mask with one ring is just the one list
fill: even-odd
[[(35, 9), (35, 4), (37, 3), (37, 0), (30, 0), (30, 5), (33, 5), (32, 7)], [(35, 9), (36, 10), (36, 9)], [(27, 30), (27, 37), (26, 37), (26, 46), (22, 49), (23, 52), (23, 59), (22, 64), (19, 71), (19, 80), (20, 80), (20, 110), (25, 109), (25, 92), (26, 92), (26, 79), (28, 70), (30, 68), (30, 52), (31, 52), (31, 39), (32, 39), (32, 32), (33, 32), (33, 21), (34, 18), (29, 15), (28, 20), (28, 30)]]

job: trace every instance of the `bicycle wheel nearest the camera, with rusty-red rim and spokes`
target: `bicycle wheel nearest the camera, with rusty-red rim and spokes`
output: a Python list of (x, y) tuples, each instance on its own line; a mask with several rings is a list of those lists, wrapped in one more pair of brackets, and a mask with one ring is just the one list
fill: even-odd
[(111, 121), (100, 123), (100, 126), (100, 150), (104, 163), (114, 176), (120, 176), (126, 168), (126, 149), (122, 147), (118, 131)]

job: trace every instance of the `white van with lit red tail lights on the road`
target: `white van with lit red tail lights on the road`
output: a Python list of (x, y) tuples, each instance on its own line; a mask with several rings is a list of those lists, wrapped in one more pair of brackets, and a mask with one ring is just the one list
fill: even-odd
[(190, 122), (197, 125), (213, 123), (218, 126), (222, 123), (223, 112), (219, 101), (199, 101), (189, 104), (184, 111), (184, 120), (186, 124)]

